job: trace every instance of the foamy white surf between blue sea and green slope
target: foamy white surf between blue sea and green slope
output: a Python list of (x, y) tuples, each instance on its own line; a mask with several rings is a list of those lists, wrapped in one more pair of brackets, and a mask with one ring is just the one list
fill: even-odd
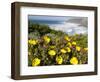
[(66, 32), (69, 35), (73, 34), (87, 34), (88, 28), (85, 26), (80, 26), (80, 24), (77, 23), (67, 23), (62, 22), (61, 24), (51, 24), (49, 25), (51, 29), (55, 30), (61, 30), (63, 32)]

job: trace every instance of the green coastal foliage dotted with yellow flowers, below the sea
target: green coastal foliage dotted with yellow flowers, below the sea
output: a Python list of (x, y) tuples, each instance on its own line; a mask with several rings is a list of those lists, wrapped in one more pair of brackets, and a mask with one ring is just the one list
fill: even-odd
[(87, 35), (69, 36), (48, 25), (29, 23), (28, 65), (87, 64)]

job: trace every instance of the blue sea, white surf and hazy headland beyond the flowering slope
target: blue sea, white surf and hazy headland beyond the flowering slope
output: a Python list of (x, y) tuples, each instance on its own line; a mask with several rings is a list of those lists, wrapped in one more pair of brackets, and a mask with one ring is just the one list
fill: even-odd
[(47, 24), (51, 29), (61, 30), (69, 35), (87, 34), (88, 32), (86, 17), (29, 15), (28, 20), (33, 23)]

